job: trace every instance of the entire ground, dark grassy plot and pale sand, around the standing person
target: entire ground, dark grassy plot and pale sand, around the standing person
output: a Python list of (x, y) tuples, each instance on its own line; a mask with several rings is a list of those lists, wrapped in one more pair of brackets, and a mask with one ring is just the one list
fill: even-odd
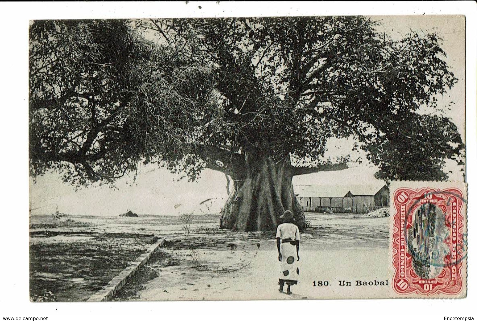
[[(38, 266), (31, 269), (31, 289), (38, 288), (39, 293), (46, 291), (43, 289), (51, 291), (52, 298), (46, 301), (84, 301), (89, 293), (82, 292), (84, 284), (96, 282), (96, 274), (102, 278), (101, 284), (94, 283), (98, 288), (128, 261), (134, 261), (139, 255), (136, 250), (147, 247), (142, 239), (161, 238), (168, 241), (166, 246), (114, 300), (315, 299), (336, 297), (343, 291), (362, 291), (365, 297), (375, 297), (376, 288), (350, 290), (340, 286), (339, 281), (354, 284), (355, 280), (388, 278), (388, 264), (383, 258), (387, 257), (389, 218), (317, 213), (306, 216), (312, 228), (301, 234), (301, 280), (293, 286), (290, 296), (278, 292), (280, 264), (273, 231), (219, 230), (218, 215), (193, 216), (190, 220), (166, 216), (73, 217), (79, 226), (62, 228), (33, 221), (30, 251), (31, 258), (38, 258), (32, 261)], [(111, 247), (104, 248), (105, 243), (111, 243)], [(65, 272), (53, 271), (49, 262), (57, 262), (64, 247), (76, 251), (64, 253), (69, 261), (61, 259), (71, 264), (62, 263)], [(43, 251), (45, 248), (61, 251)], [(89, 251), (90, 248), (99, 250)], [(101, 254), (100, 250), (107, 253)], [(113, 254), (117, 262), (111, 260)], [(76, 261), (81, 264), (73, 264)], [(46, 275), (41, 274), (43, 271), (49, 273), (48, 283), (41, 283)], [(92, 276), (90, 271), (96, 274)], [(328, 286), (318, 286), (325, 281)]]

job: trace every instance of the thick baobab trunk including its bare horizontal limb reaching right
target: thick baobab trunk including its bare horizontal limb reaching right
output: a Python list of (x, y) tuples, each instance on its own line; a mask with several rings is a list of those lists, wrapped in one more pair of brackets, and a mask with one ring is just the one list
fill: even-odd
[(300, 230), (308, 227), (301, 205), (295, 196), (293, 176), (319, 171), (340, 171), (346, 163), (322, 164), (314, 167), (295, 167), (290, 156), (263, 155), (259, 150), (242, 153), (216, 151), (209, 156), (220, 159), (223, 165), (208, 162), (207, 167), (230, 175), (234, 190), (222, 210), (220, 227), (239, 231), (272, 231), (282, 222), (280, 216), (290, 210)]

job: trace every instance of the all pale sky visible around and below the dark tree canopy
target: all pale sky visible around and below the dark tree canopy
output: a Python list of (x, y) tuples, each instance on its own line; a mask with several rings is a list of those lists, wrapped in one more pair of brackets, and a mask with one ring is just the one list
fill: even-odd
[[(436, 31), (442, 38), (442, 48), (446, 51), (446, 62), (456, 78), (456, 86), (445, 97), (438, 97), (439, 106), (444, 114), (454, 120), (463, 139), (465, 139), (465, 20), (461, 16), (373, 16), (380, 20), (386, 35), (402, 37), (410, 29)], [(446, 109), (453, 101), (455, 104)], [(423, 109), (423, 112), (426, 112)], [(346, 155), (353, 145), (352, 140), (331, 139), (328, 142), (328, 154), (325, 156)], [(357, 153), (354, 157), (362, 157)], [(456, 164), (449, 161), (445, 170), (452, 170), (450, 180), (461, 181), (462, 174)], [(297, 176), (293, 184), (349, 184), (375, 182), (373, 174), (378, 168), (364, 161), (362, 164), (350, 164), (343, 171), (328, 171)], [(50, 214), (56, 210), (70, 215), (106, 215), (117, 216), (126, 211), (139, 215), (179, 215), (183, 213), (218, 212), (228, 195), (226, 178), (223, 173), (211, 170), (202, 172), (199, 180), (177, 181), (179, 175), (149, 164), (140, 166), (138, 175), (126, 176), (115, 184), (115, 189), (107, 185), (93, 185), (76, 190), (74, 186), (63, 183), (60, 174), (48, 172), (38, 177), (36, 182), (30, 179), (31, 214)], [(200, 205), (202, 201), (211, 199)]]

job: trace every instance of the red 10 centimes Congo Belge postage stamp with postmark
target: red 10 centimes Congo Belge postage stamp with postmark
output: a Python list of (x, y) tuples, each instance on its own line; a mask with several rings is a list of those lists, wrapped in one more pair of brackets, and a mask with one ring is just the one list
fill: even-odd
[[(401, 182), (402, 186), (406, 183)], [(403, 296), (466, 296), (465, 185), (409, 185), (414, 187), (399, 187), (391, 194), (394, 292)]]

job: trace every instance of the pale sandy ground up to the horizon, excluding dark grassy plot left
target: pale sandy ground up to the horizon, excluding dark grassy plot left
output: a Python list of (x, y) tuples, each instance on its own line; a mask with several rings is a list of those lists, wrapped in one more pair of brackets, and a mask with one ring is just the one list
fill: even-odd
[[(300, 281), (292, 287), (292, 295), (278, 291), (280, 263), (273, 232), (219, 230), (218, 215), (193, 216), (188, 220), (166, 216), (72, 218), (88, 226), (37, 226), (31, 231), (90, 231), (108, 237), (112, 233), (137, 233), (167, 240), (161, 250), (164, 255), (146, 264), (145, 269), (152, 273), (139, 278), (136, 284), (129, 282), (124, 288), (129, 287), (129, 291), (120, 292), (115, 300), (377, 298), (385, 297), (390, 288), (355, 285), (355, 280), (389, 280), (389, 218), (308, 213), (312, 228), (301, 235)], [(38, 241), (31, 238), (32, 243)], [(89, 241), (89, 235), (41, 238), (41, 242), (72, 246)], [(313, 286), (313, 281), (316, 285), (327, 281), (328, 286)], [(352, 286), (340, 286), (339, 281), (349, 281)]]

